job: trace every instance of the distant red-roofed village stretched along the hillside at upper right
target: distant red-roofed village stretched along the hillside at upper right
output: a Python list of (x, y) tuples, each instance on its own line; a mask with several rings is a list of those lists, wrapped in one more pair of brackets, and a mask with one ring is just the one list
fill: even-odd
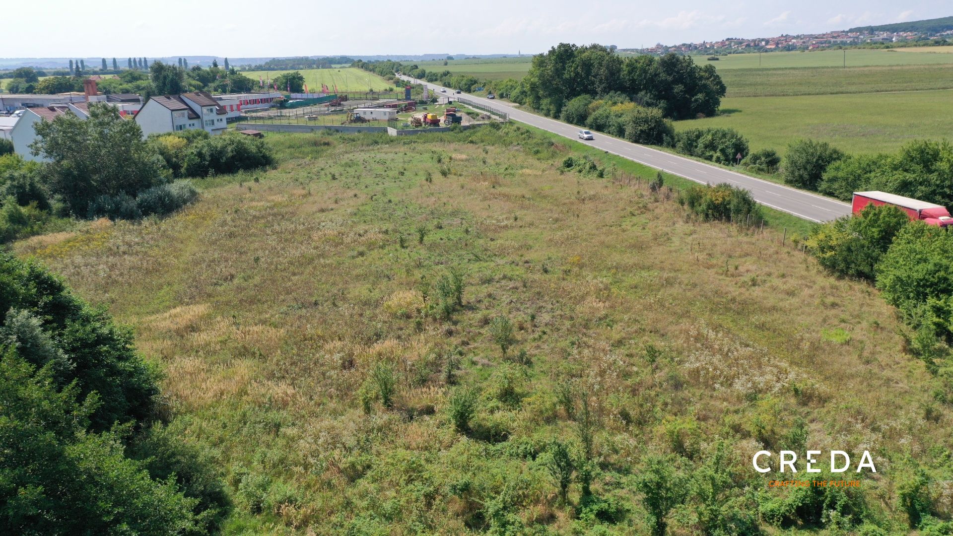
[(753, 52), (753, 51), (813, 51), (836, 46), (856, 46), (876, 43), (913, 42), (923, 39), (941, 40), (953, 38), (953, 30), (924, 34), (923, 31), (825, 31), (823, 33), (799, 33), (797, 35), (778, 35), (777, 37), (758, 37), (743, 39), (728, 37), (720, 41), (701, 41), (700, 43), (682, 43), (680, 45), (657, 44), (648, 49), (633, 52)]

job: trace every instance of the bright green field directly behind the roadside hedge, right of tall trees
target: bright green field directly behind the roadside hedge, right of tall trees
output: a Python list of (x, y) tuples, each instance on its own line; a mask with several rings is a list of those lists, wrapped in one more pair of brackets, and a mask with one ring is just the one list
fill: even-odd
[(911, 139), (951, 137), (951, 102), (953, 91), (726, 97), (722, 114), (675, 126), (730, 127), (753, 150), (783, 153), (792, 140), (811, 137), (848, 153), (893, 152)]

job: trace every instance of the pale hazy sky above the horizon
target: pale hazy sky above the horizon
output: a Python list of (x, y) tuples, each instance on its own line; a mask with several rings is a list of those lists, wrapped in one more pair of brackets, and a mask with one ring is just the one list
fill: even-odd
[[(400, 6), (405, 6), (401, 8)], [(619, 48), (844, 30), (953, 15), (949, 0), (569, 1), (34, 0), (7, 18), (0, 57), (544, 52), (559, 42)]]

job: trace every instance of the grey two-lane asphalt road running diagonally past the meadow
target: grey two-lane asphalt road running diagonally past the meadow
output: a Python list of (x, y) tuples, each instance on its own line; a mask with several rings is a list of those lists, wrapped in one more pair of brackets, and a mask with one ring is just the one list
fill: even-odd
[[(407, 76), (403, 76), (403, 78), (417, 82), (414, 78)], [(639, 162), (639, 164), (644, 164), (672, 175), (683, 176), (689, 180), (700, 182), (701, 184), (715, 185), (726, 182), (744, 188), (750, 191), (751, 195), (754, 196), (755, 200), (760, 204), (803, 219), (810, 221), (829, 221), (850, 214), (850, 205), (836, 199), (811, 194), (810, 192), (804, 192), (803, 190), (754, 176), (743, 175), (683, 156), (670, 155), (663, 151), (624, 141), (607, 134), (595, 134), (596, 139), (582, 141), (578, 139), (579, 129), (576, 126), (563, 123), (556, 119), (550, 119), (549, 117), (542, 117), (534, 113), (523, 112), (517, 107), (502, 101), (490, 100), (467, 93), (455, 95), (455, 91), (450, 88), (442, 88), (441, 86), (435, 86), (433, 84), (427, 85), (432, 90), (436, 88), (436, 92), (441, 95), (444, 93), (440, 93), (440, 90), (445, 89), (447, 90), (446, 95), (465, 96), (476, 102), (508, 112), (510, 113), (510, 119), (515, 121), (526, 123), (527, 125), (532, 125), (554, 134), (577, 139), (577, 141), (581, 143), (592, 145), (613, 155), (634, 160)]]

